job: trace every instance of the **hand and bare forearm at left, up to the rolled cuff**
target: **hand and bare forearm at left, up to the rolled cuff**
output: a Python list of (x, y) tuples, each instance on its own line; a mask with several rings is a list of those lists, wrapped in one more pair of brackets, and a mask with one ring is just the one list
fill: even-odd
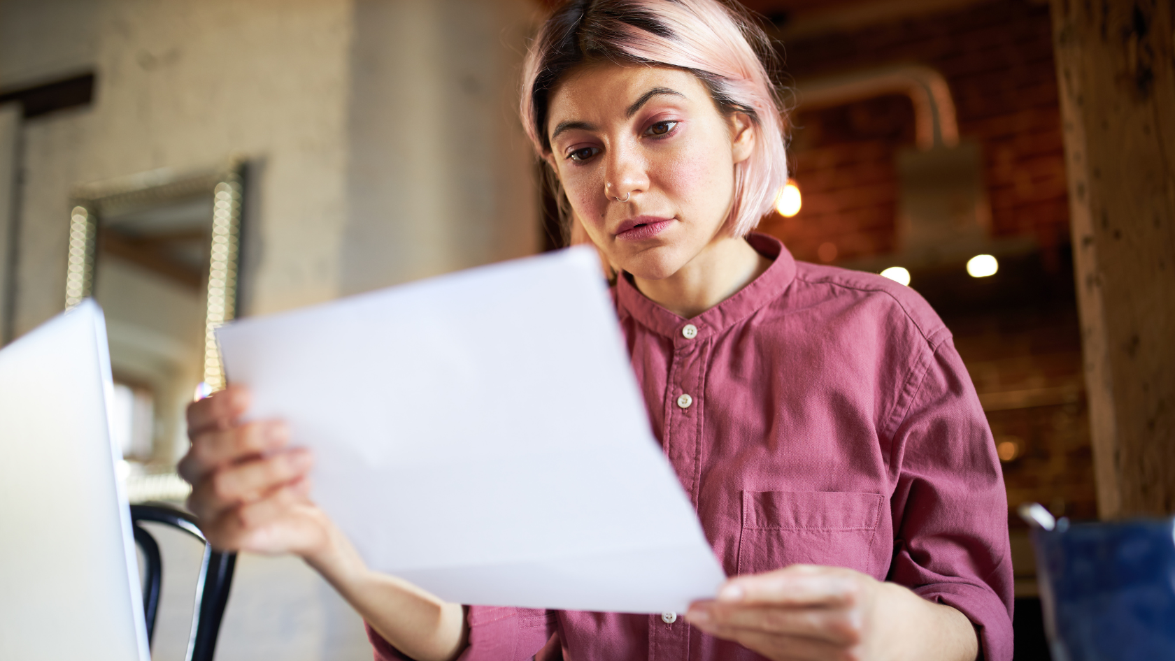
[(192, 483), (188, 508), (213, 546), (296, 553), (318, 571), (380, 634), (412, 659), (451, 660), (465, 646), (459, 603), (370, 571), (327, 515), (310, 503), (310, 453), (288, 447), (278, 421), (244, 423), (244, 389), (188, 406), (192, 448), (179, 471)]

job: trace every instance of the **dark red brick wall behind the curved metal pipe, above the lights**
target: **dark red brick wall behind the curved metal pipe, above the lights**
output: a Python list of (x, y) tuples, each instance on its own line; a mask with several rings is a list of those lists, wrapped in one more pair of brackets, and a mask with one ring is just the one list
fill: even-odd
[[(1050, 250), (1068, 240), (1065, 157), (1048, 6), (1000, 0), (783, 45), (785, 72), (803, 81), (887, 63), (921, 63), (947, 80), (962, 140), (978, 141), (994, 236), (1032, 236)], [(792, 117), (794, 177), (804, 209), (761, 228), (797, 257), (818, 261), (892, 249), (894, 153), (913, 146), (913, 108), (881, 97)], [(827, 252), (826, 252), (827, 256)]]

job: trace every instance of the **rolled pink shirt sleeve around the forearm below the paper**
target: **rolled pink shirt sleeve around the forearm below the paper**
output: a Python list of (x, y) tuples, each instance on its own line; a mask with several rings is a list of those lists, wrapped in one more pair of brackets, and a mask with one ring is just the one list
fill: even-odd
[[(470, 606), (469, 645), (457, 661), (544, 661), (558, 659), (559, 639), (555, 611)], [(392, 647), (371, 625), (368, 639), (375, 647), (375, 661), (412, 661)]]

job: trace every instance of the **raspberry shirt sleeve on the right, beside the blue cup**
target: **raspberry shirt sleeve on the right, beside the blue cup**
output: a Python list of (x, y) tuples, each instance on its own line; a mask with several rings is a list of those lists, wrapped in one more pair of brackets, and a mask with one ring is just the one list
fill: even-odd
[[(925, 363), (924, 363), (925, 364)], [(916, 380), (916, 379), (915, 379)], [(995, 444), (949, 337), (911, 384), (893, 436), (899, 461), (888, 580), (962, 612), (982, 659), (1012, 660), (1012, 551)]]

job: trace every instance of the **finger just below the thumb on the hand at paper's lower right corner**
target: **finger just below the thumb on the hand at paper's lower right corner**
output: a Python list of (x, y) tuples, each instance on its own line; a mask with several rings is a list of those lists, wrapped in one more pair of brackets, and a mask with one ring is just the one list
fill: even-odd
[(855, 608), (740, 606), (699, 602), (690, 607), (686, 620), (710, 629), (746, 629), (774, 635), (810, 638), (840, 646), (861, 641), (862, 619)]

